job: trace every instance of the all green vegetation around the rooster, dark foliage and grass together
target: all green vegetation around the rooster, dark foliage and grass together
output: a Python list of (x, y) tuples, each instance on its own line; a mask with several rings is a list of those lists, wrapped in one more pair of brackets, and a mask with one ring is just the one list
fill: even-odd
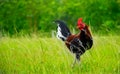
[[(73, 55), (50, 34), (57, 19), (77, 33), (79, 17), (94, 45), (71, 68)], [(119, 19), (120, 0), (0, 0), (0, 74), (120, 74)]]

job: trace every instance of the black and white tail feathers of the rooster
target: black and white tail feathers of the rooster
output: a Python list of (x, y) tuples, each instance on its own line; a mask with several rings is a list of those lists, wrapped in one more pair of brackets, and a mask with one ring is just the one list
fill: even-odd
[(57, 23), (57, 38), (61, 39), (62, 41), (65, 41), (68, 36), (71, 35), (71, 32), (69, 28), (66, 26), (66, 24), (63, 21), (56, 20), (55, 23)]

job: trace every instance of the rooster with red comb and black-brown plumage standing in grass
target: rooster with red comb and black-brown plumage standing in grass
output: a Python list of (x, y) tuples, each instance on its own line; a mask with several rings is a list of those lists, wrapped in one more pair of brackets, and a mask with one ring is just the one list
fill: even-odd
[(76, 60), (80, 62), (80, 56), (93, 45), (89, 27), (82, 22), (82, 18), (79, 18), (77, 28), (80, 30), (80, 33), (73, 35), (65, 22), (56, 20), (55, 23), (57, 24), (57, 38), (64, 41), (67, 48), (75, 54), (75, 60), (72, 64), (74, 66)]

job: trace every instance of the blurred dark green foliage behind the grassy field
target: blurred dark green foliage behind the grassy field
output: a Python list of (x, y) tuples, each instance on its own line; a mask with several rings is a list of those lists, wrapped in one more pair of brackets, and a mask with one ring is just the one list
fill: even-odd
[(79, 17), (94, 34), (118, 34), (120, 0), (0, 0), (2, 35), (50, 34), (57, 19), (72, 30)]

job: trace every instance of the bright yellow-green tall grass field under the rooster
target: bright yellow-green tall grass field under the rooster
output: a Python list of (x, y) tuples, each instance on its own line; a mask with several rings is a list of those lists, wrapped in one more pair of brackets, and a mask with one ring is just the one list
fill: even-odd
[(73, 63), (73, 55), (56, 38), (0, 39), (0, 74), (120, 74), (120, 37), (94, 37), (91, 50)]

